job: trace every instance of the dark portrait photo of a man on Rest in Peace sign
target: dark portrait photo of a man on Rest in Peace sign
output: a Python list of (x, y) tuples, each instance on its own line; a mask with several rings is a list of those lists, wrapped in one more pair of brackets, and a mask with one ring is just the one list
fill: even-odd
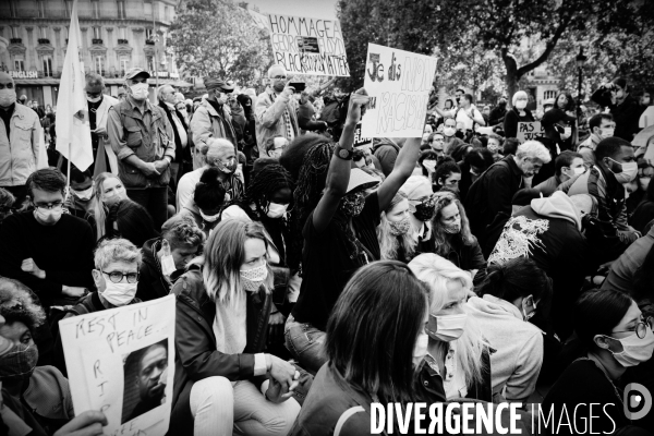
[(124, 391), (121, 424), (166, 402), (168, 339), (123, 356)]

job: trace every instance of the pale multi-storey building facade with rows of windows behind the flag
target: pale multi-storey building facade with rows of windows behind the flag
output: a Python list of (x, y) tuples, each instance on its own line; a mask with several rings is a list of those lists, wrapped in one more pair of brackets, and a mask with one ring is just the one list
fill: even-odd
[[(180, 2), (77, 0), (81, 59), (86, 72), (105, 77), (107, 94), (116, 96), (134, 66), (149, 71), (153, 85), (179, 77), (166, 37)], [(0, 69), (14, 77), (19, 96), (44, 107), (57, 106), (72, 7), (73, 0), (0, 1)]]

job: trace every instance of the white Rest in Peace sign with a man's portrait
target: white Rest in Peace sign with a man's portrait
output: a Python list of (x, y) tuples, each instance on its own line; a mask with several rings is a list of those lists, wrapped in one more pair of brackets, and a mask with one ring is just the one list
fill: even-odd
[(164, 435), (174, 376), (174, 295), (59, 322), (75, 414), (100, 410), (105, 435)]

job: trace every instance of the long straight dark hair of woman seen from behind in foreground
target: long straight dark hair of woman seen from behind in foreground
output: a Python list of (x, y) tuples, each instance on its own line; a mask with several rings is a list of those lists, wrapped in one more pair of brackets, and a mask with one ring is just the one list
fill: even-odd
[(424, 328), (428, 294), (400, 262), (359, 269), (327, 323), (329, 366), (382, 402), (415, 401), (413, 349)]

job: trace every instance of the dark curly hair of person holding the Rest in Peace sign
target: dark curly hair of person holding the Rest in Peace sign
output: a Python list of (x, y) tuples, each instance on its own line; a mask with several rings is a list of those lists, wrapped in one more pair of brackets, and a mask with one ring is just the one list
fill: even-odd
[(32, 334), (46, 320), (46, 313), (32, 290), (5, 277), (0, 277), (0, 315), (7, 324), (23, 323)]

